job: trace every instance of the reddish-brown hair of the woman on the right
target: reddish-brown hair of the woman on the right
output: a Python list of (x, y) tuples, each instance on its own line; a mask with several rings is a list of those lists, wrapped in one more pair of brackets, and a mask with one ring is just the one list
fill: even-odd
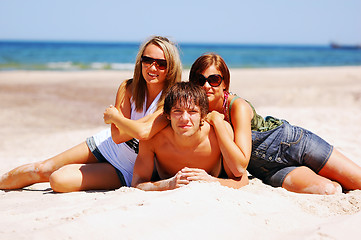
[(226, 85), (225, 90), (229, 91), (229, 69), (223, 58), (216, 53), (207, 53), (197, 58), (197, 60), (192, 64), (191, 70), (189, 72), (189, 81), (196, 83), (198, 75), (212, 65), (214, 65), (216, 69), (222, 73), (223, 81)]

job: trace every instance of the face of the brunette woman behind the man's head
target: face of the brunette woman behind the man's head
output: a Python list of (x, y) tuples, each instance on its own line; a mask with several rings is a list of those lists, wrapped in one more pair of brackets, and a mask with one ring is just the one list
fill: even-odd
[[(206, 78), (208, 78), (210, 75), (213, 75), (213, 74), (219, 74), (222, 76), (221, 71), (219, 71), (215, 65), (211, 65), (209, 68), (207, 68), (206, 70), (204, 70), (202, 72), (202, 75)], [(207, 93), (210, 107), (219, 105), (219, 104), (217, 104), (219, 101), (221, 103), (223, 102), (223, 96), (224, 96), (223, 90), (225, 88), (226, 88), (226, 86), (225, 86), (224, 81), (222, 81), (222, 83), (218, 87), (212, 87), (211, 85), (209, 85), (208, 82), (205, 82), (205, 84), (203, 85), (203, 89)]]

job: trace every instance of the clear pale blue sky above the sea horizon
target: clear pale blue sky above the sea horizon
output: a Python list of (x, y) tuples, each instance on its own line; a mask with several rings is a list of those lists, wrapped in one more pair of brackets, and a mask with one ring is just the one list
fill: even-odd
[(0, 40), (361, 44), (360, 0), (0, 0)]

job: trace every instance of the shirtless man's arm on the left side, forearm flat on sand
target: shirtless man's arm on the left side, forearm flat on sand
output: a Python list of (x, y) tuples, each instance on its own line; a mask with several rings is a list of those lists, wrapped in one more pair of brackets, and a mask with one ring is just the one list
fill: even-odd
[(180, 172), (169, 179), (151, 182), (155, 153), (152, 147), (151, 140), (139, 142), (139, 154), (135, 161), (132, 187), (136, 187), (145, 191), (163, 191), (171, 190), (184, 185), (189, 181), (181, 177)]

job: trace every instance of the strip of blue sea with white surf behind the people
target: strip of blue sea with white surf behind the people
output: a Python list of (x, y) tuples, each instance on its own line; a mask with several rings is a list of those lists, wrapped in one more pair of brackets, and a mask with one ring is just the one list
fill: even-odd
[[(0, 41), (0, 71), (133, 70), (138, 42)], [(180, 43), (184, 68), (203, 53), (220, 54), (231, 68), (360, 66), (361, 49), (331, 46)]]

